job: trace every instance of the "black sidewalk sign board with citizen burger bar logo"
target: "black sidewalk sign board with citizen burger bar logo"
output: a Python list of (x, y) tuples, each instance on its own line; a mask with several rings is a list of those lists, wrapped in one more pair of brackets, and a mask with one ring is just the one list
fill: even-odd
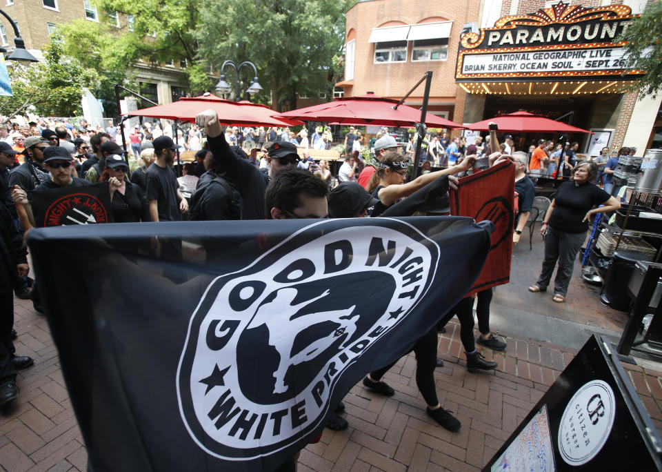
[(661, 444), (616, 351), (593, 335), (483, 471), (660, 471)]

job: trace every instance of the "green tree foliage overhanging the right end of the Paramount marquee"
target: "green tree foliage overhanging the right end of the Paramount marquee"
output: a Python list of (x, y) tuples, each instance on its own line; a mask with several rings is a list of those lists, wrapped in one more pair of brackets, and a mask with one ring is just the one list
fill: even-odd
[(655, 95), (662, 88), (662, 2), (648, 4), (641, 17), (632, 20), (619, 37), (628, 41), (625, 59), (630, 68), (645, 70), (645, 75), (632, 86), (642, 95)]

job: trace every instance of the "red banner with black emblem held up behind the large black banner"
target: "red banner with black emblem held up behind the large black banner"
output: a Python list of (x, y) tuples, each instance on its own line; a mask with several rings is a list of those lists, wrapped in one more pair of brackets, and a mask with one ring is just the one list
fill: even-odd
[(488, 219), (496, 226), (483, 272), (469, 294), (508, 284), (512, 258), (515, 166), (504, 162), (463, 177), (459, 181), (458, 190), (450, 192), (452, 215), (472, 217), (477, 222)]

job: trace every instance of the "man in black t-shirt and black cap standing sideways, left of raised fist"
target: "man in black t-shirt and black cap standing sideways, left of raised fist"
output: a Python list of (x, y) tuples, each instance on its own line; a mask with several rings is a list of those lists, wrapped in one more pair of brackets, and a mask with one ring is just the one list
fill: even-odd
[(154, 139), (154, 155), (157, 160), (147, 169), (146, 199), (150, 202), (152, 222), (174, 222), (188, 211), (188, 202), (179, 192), (179, 184), (170, 166), (174, 164), (177, 149), (168, 136)]

